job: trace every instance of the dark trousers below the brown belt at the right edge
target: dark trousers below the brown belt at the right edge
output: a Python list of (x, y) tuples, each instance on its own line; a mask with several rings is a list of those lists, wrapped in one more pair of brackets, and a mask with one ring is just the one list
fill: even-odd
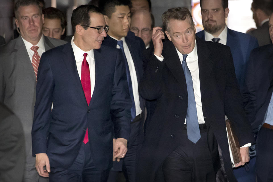
[(273, 130), (261, 128), (256, 141), (258, 182), (273, 181)]

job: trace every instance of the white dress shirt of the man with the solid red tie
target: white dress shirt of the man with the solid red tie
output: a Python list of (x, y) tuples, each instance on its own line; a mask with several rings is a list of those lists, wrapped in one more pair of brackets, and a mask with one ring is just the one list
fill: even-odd
[(76, 60), (76, 66), (78, 70), (78, 74), (81, 77), (82, 73), (82, 61), (83, 61), (83, 54), (87, 53), (86, 61), (89, 65), (89, 71), (90, 71), (90, 81), (91, 81), (91, 97), (93, 95), (94, 87), (95, 87), (95, 59), (94, 59), (94, 50), (91, 49), (90, 51), (83, 51), (80, 49), (76, 44), (74, 43), (74, 36), (71, 39), (71, 45), (74, 52), (75, 60)]

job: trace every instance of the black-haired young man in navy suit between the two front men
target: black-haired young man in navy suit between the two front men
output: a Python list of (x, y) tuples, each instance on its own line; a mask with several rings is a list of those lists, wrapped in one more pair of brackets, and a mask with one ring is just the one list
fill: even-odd
[(129, 31), (131, 22), (130, 6), (131, 1), (127, 0), (107, 0), (100, 5), (104, 15), (106, 15), (106, 24), (109, 25), (108, 36), (105, 38), (103, 45), (119, 48), (124, 53), (127, 82), (133, 103), (128, 152), (123, 160), (123, 166), (114, 163), (108, 181), (115, 181), (117, 171), (122, 169), (127, 181), (135, 181), (137, 152), (143, 138), (144, 101), (138, 95), (138, 82), (143, 74), (142, 51), (145, 49), (145, 45), (141, 38)]

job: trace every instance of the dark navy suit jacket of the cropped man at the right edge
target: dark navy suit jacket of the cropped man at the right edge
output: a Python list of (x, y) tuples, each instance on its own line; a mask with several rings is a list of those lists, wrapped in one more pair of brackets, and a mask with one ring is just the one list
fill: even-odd
[(273, 92), (273, 45), (253, 49), (243, 89), (245, 111), (254, 133), (263, 124)]

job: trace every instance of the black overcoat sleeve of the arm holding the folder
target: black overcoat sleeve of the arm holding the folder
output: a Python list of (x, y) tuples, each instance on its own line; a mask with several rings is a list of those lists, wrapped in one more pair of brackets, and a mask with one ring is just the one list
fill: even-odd
[(254, 137), (251, 132), (250, 123), (245, 114), (243, 100), (240, 94), (239, 85), (235, 76), (232, 55), (229, 51), (226, 61), (226, 93), (225, 93), (225, 113), (239, 139), (240, 146), (247, 143), (254, 143)]

